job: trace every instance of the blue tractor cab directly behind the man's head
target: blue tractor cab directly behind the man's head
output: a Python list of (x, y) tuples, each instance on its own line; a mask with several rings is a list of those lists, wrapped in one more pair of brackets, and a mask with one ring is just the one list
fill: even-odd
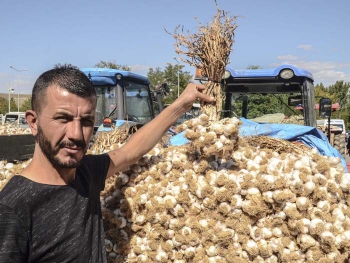
[[(139, 74), (108, 68), (81, 68), (96, 89), (95, 131), (128, 122), (141, 127), (163, 110), (162, 88), (150, 90), (150, 81)], [(156, 102), (155, 102), (156, 100)]]

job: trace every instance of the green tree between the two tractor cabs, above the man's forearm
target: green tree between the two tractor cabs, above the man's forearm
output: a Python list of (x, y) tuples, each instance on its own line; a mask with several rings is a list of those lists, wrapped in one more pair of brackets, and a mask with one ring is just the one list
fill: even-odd
[(183, 65), (172, 65), (171, 63), (167, 63), (167, 66), (164, 70), (162, 70), (159, 67), (155, 69), (150, 68), (148, 70), (147, 77), (151, 82), (152, 89), (155, 89), (158, 85), (162, 83), (168, 84), (170, 92), (163, 99), (164, 104), (172, 103), (177, 98), (178, 93), (181, 94), (185, 87), (188, 85), (188, 83), (190, 83), (192, 75), (188, 71), (183, 71), (183, 68)]

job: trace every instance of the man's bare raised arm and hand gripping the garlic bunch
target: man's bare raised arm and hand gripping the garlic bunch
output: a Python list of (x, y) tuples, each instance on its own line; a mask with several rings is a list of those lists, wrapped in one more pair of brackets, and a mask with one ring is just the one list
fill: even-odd
[(162, 138), (165, 132), (184, 114), (190, 110), (197, 99), (207, 102), (214, 98), (202, 93), (203, 85), (190, 83), (171, 105), (165, 108), (154, 120), (147, 123), (119, 149), (110, 151), (111, 164), (108, 176), (135, 163), (149, 152)]

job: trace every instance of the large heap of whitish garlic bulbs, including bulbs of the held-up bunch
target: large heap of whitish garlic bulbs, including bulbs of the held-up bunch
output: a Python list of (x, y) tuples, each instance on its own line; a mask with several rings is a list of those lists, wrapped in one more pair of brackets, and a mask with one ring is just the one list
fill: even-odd
[(350, 174), (339, 158), (277, 153), (238, 137), (236, 118), (182, 127), (106, 184), (110, 262), (345, 262)]

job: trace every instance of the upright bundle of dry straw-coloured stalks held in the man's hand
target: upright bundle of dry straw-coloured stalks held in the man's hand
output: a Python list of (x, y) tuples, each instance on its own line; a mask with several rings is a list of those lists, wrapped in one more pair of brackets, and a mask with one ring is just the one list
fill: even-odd
[[(216, 3), (216, 1), (215, 1)], [(213, 21), (208, 25), (203, 25), (196, 17), (199, 23), (198, 32), (188, 36), (178, 33), (178, 26), (174, 34), (171, 34), (175, 40), (176, 53), (185, 55), (184, 59), (179, 59), (191, 66), (199, 69), (203, 76), (208, 78), (205, 83), (205, 94), (213, 96), (216, 103), (210, 104), (201, 101), (201, 110), (207, 114), (212, 121), (220, 119), (222, 108), (222, 94), (220, 81), (225, 72), (225, 67), (229, 63), (229, 56), (234, 43), (234, 31), (237, 28), (236, 16), (228, 16), (228, 12), (220, 10), (216, 3), (217, 13)]]

